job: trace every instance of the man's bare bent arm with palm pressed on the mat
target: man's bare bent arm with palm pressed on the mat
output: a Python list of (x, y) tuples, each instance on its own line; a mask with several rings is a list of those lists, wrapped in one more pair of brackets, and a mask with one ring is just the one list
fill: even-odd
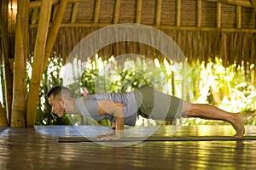
[(125, 123), (123, 104), (109, 101), (109, 100), (99, 100), (98, 111), (100, 115), (113, 114), (115, 119), (115, 134), (101, 136), (98, 139), (102, 139), (102, 140), (120, 139), (123, 135), (124, 123)]

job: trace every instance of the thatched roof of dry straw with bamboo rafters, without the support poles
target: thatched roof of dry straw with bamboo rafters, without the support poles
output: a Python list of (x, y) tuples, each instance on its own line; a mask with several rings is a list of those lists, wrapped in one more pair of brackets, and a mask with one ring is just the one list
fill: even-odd
[[(51, 20), (59, 3), (53, 0)], [(255, 0), (69, 0), (54, 51), (67, 56), (83, 37), (99, 28), (138, 23), (164, 31), (189, 60), (220, 55), (227, 65), (241, 60), (256, 63), (255, 4)], [(31, 53), (40, 5), (41, 1), (30, 2)], [(126, 43), (119, 47), (106, 47), (102, 55), (122, 54), (130, 48)], [(147, 47), (138, 46), (130, 52), (146, 51)]]

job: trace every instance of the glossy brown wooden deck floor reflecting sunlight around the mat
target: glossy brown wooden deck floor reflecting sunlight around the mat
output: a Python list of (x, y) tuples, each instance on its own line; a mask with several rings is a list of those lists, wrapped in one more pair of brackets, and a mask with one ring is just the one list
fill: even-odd
[[(90, 131), (90, 127), (85, 127)], [(145, 127), (138, 130), (147, 131)], [(161, 127), (154, 136), (171, 136)], [(246, 127), (256, 136), (256, 127)], [(226, 136), (230, 126), (181, 127), (174, 136)], [(60, 143), (79, 136), (74, 127), (0, 128), (0, 169), (256, 169), (256, 140), (143, 141), (125, 147), (94, 142)]]

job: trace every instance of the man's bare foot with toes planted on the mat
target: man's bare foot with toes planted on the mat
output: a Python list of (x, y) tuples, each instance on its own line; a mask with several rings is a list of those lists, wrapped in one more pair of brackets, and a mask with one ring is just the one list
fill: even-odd
[(241, 113), (234, 114), (235, 121), (231, 122), (231, 125), (235, 128), (236, 134), (234, 135), (235, 138), (241, 138), (245, 133), (244, 123), (242, 120)]

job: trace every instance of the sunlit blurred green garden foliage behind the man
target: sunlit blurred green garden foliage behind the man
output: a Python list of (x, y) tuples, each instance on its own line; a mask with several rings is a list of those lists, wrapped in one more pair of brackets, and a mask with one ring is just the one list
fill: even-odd
[[(100, 123), (110, 125), (108, 121), (96, 122), (77, 115), (66, 115), (59, 118), (51, 113), (47, 92), (50, 88), (60, 86), (63, 83), (63, 77), (69, 79), (67, 87), (71, 88), (76, 96), (83, 95), (86, 89), (89, 94), (130, 92), (135, 88), (148, 85), (165, 94), (172, 94), (192, 103), (207, 103), (216, 105), (225, 111), (242, 112), (247, 125), (256, 124), (256, 90), (253, 86), (255, 84), (255, 73), (253, 72), (255, 65), (246, 63), (236, 65), (235, 63), (224, 67), (218, 56), (215, 57), (215, 60), (209, 59), (208, 62), (197, 61), (188, 64), (187, 61), (175, 63), (169, 59), (152, 60), (142, 56), (134, 57), (134, 55), (125, 59), (113, 57), (103, 59), (96, 54), (93, 59), (87, 59), (84, 63), (79, 59), (74, 59), (68, 68), (63, 64), (61, 57), (55, 56), (54, 59), (49, 59), (41, 82), (36, 124), (94, 125)], [(26, 72), (28, 84), (31, 79), (31, 63), (27, 63)], [(76, 77), (67, 77), (67, 72), (69, 75), (76, 74)], [(138, 126), (156, 123), (160, 122), (148, 121), (142, 117), (137, 121)], [(175, 123), (187, 126), (224, 122), (182, 119)]]

